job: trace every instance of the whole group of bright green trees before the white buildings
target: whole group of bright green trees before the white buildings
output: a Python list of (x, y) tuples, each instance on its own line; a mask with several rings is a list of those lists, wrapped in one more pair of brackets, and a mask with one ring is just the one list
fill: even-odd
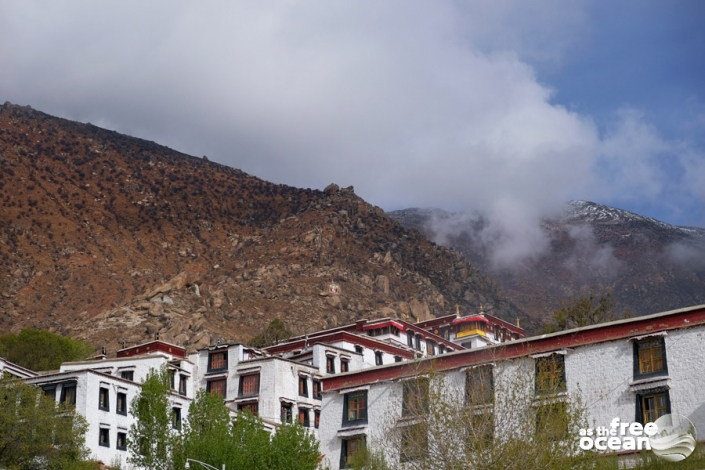
[(221, 396), (204, 389), (189, 406), (183, 429), (173, 429), (166, 369), (152, 370), (132, 402), (129, 463), (148, 470), (185, 467), (186, 459), (228, 470), (314, 470), (318, 441), (300, 424), (285, 424), (273, 435), (261, 418), (240, 412), (233, 420)]

